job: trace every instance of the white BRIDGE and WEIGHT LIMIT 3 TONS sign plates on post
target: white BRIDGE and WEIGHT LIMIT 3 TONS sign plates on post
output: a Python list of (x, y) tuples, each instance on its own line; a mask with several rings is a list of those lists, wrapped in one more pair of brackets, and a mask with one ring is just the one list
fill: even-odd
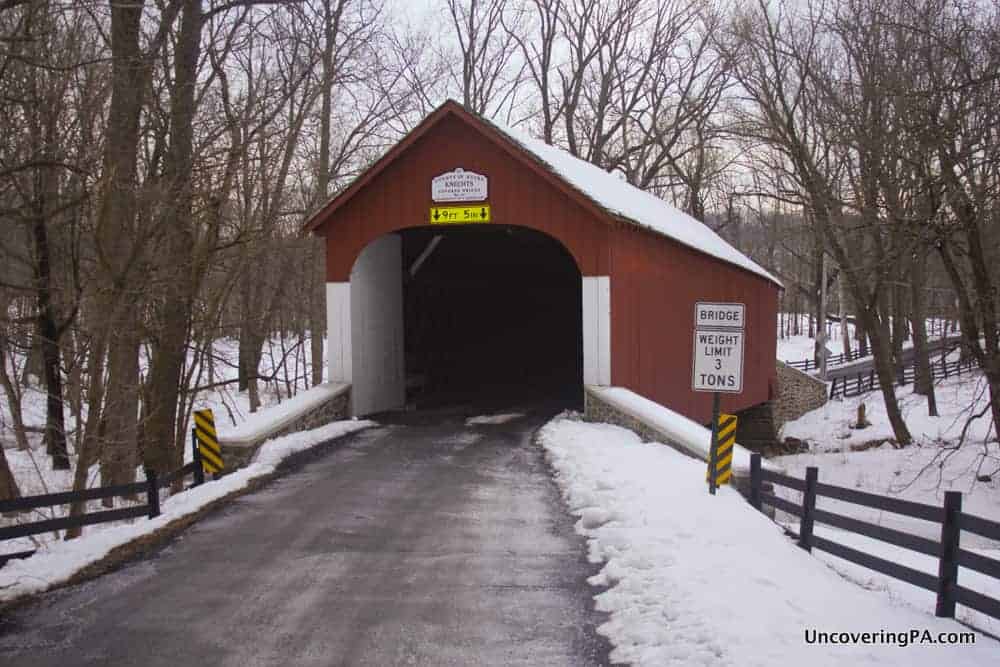
[(744, 314), (742, 303), (695, 304), (691, 378), (695, 391), (743, 391)]

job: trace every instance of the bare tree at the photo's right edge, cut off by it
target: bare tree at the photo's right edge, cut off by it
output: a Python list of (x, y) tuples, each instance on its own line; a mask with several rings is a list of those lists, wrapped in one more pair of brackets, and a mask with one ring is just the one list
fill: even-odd
[(1000, 8), (947, 0), (906, 7), (896, 22), (914, 36), (908, 83), (922, 93), (908, 98), (909, 110), (925, 124), (921, 154), (934, 160), (933, 171), (923, 163), (928, 196), (943, 204), (921, 227), (955, 290), (962, 338), (986, 377), (1000, 437)]

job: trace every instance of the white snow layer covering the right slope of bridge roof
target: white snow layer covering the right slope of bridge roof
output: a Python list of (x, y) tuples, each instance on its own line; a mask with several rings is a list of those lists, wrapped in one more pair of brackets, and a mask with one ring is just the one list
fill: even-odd
[(782, 287), (781, 281), (752, 259), (729, 245), (708, 225), (671, 206), (659, 197), (628, 184), (567, 151), (550, 146), (518, 130), (483, 119), (508, 139), (519, 144), (537, 160), (612, 215), (650, 229), (678, 243), (755, 273)]

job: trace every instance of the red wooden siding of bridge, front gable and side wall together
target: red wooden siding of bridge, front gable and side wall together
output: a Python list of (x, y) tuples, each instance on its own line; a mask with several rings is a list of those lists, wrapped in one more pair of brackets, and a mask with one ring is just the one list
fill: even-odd
[[(489, 178), (493, 223), (556, 238), (584, 276), (611, 278), (611, 381), (706, 423), (711, 395), (691, 390), (694, 304), (746, 304), (743, 392), (737, 411), (769, 400), (775, 381), (778, 287), (731, 264), (603, 214), (571, 188), (515, 157), (492, 128), (447, 103), (309, 223), (327, 239), (327, 280), (349, 279), (376, 238), (428, 224), (431, 179), (458, 167)], [(502, 147), (508, 145), (508, 148)], [(515, 151), (515, 155), (511, 154)]]

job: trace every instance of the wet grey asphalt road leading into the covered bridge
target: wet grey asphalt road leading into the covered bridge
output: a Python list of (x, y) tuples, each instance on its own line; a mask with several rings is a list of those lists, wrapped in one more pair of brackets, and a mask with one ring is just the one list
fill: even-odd
[(416, 413), (0, 619), (0, 665), (600, 665), (529, 415)]

